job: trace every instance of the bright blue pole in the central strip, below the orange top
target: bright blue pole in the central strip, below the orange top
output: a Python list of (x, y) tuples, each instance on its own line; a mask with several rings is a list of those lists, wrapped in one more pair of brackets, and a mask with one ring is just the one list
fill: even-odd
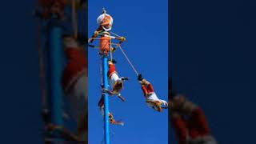
[[(107, 57), (102, 56), (102, 76), (103, 76), (103, 86), (107, 90), (108, 81), (107, 81)], [(105, 144), (110, 144), (110, 127), (109, 127), (109, 99), (108, 95), (104, 94), (104, 129), (105, 129)]]

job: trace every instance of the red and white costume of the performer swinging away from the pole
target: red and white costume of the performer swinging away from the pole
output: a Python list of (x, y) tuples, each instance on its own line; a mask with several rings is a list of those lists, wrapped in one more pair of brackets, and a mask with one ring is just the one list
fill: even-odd
[(154, 110), (157, 110), (157, 108), (151, 102), (160, 102), (162, 105), (168, 106), (166, 101), (159, 99), (157, 94), (154, 93), (154, 88), (150, 82), (146, 82), (146, 84), (142, 84), (141, 86), (148, 106), (154, 108)]

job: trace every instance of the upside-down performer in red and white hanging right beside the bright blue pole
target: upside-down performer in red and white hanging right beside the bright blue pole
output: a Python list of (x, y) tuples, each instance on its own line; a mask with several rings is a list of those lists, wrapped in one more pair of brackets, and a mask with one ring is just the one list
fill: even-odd
[(123, 89), (123, 82), (128, 80), (128, 78), (119, 78), (114, 63), (116, 63), (114, 60), (108, 61), (109, 70), (107, 72), (107, 77), (111, 87), (110, 94), (117, 95), (119, 98), (122, 98), (120, 91)]

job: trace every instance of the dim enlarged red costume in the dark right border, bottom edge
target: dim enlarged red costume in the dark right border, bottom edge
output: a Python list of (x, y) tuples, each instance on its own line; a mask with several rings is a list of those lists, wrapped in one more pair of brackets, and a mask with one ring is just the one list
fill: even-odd
[(217, 144), (210, 134), (202, 109), (196, 108), (188, 119), (182, 116), (172, 119), (179, 144)]

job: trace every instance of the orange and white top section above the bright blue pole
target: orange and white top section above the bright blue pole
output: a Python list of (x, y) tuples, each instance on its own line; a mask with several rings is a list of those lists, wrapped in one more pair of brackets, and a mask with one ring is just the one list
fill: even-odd
[[(113, 18), (110, 14), (106, 14), (106, 10), (103, 9), (102, 14), (97, 18), (98, 29), (94, 31), (94, 35), (88, 39), (88, 43), (94, 42), (94, 38), (97, 38), (100, 34), (100, 41), (99, 41), (99, 49), (100, 54), (108, 55), (108, 52), (111, 50), (114, 51), (114, 48), (110, 46), (110, 30), (112, 29), (113, 25)], [(120, 42), (124, 42), (126, 39), (123, 37), (115, 37)]]

